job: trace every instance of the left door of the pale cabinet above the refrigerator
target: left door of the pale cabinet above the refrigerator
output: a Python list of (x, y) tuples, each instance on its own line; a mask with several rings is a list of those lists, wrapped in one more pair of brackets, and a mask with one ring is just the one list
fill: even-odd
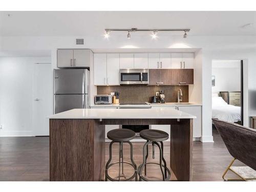
[(73, 49), (57, 50), (57, 67), (73, 67)]

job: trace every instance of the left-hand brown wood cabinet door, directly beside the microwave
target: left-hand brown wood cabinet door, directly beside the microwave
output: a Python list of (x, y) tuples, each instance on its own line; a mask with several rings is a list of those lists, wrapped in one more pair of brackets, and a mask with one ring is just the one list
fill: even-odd
[(149, 80), (150, 85), (170, 85), (171, 84), (170, 69), (150, 69)]

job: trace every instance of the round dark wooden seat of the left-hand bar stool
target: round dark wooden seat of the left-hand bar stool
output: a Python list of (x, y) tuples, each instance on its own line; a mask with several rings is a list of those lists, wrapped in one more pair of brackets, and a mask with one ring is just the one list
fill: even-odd
[(109, 131), (106, 136), (112, 141), (130, 141), (135, 138), (135, 132), (127, 129), (115, 129)]

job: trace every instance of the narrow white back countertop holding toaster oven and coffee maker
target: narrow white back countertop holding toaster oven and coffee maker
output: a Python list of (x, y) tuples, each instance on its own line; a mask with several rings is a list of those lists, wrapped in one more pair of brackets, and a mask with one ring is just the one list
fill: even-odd
[[(202, 106), (202, 104), (198, 103), (189, 103), (189, 102), (181, 102), (181, 103), (176, 103), (176, 102), (166, 102), (166, 103), (148, 103), (148, 106)], [(108, 107), (108, 106), (145, 106), (145, 104), (93, 104), (91, 105), (92, 108), (97, 108), (97, 107)]]

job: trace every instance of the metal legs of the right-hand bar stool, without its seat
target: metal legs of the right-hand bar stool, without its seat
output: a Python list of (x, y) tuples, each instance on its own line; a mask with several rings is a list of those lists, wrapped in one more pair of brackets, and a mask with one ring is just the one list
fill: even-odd
[[(145, 175), (146, 175), (146, 164), (157, 164), (160, 166), (161, 173), (162, 173), (162, 180), (163, 181), (168, 181), (170, 179), (170, 170), (166, 167), (166, 161), (163, 158), (163, 142), (160, 142), (161, 146), (159, 145), (158, 142), (155, 141), (147, 141), (144, 146), (143, 146), (143, 163), (138, 167), (138, 174), (139, 174), (139, 181), (150, 181), (146, 179), (145, 177), (142, 176), (142, 170), (145, 168)], [(159, 148), (159, 164), (158, 163), (147, 163), (146, 159), (148, 157), (148, 144), (156, 144)], [(154, 152), (153, 152), (153, 157), (154, 157)], [(155, 158), (155, 157), (154, 157)], [(164, 164), (162, 164), (162, 161)], [(163, 172), (163, 167), (164, 167), (164, 172)], [(167, 174), (168, 173), (168, 174)]]

